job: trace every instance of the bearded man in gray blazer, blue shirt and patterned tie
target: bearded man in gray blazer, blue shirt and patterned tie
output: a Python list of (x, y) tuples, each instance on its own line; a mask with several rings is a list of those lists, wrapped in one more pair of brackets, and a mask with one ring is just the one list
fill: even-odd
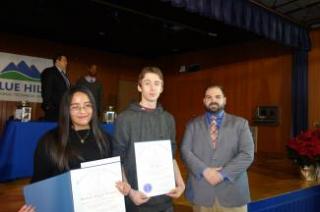
[(188, 123), (181, 146), (189, 171), (186, 198), (194, 212), (245, 212), (254, 156), (248, 121), (224, 111), (221, 86), (208, 87), (203, 104), (206, 112)]

